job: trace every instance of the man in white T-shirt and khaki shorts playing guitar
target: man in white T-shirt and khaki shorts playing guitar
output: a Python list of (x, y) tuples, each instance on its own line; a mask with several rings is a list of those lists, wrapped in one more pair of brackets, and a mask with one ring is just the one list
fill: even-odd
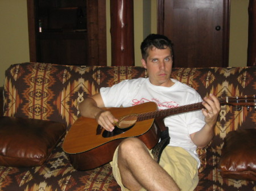
[[(167, 109), (202, 101), (200, 95), (185, 84), (171, 79), (171, 41), (151, 34), (141, 44), (142, 65), (148, 78), (124, 80), (100, 94), (86, 98), (79, 105), (82, 116), (96, 118), (98, 124), (113, 131), (117, 118), (102, 107), (130, 107), (143, 101), (155, 101), (158, 109)], [(200, 160), (196, 148), (208, 145), (220, 112), (214, 95), (204, 97), (202, 111), (167, 117), (170, 144), (164, 148), (159, 164), (138, 138), (127, 138), (115, 151), (113, 175), (122, 190), (193, 190), (199, 178)]]

